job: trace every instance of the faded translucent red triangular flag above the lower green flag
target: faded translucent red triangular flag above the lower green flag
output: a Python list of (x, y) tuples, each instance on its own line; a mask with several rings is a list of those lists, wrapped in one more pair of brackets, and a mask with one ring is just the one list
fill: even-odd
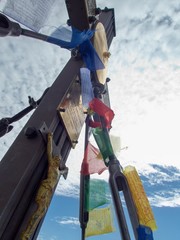
[(99, 158), (99, 154), (99, 150), (89, 142), (84, 153), (84, 159), (81, 165), (81, 174), (101, 174), (107, 169), (104, 161)]

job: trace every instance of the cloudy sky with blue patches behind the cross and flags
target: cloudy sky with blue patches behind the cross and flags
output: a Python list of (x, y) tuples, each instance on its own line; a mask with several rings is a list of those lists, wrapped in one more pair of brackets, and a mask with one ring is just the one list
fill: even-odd
[[(0, 1), (0, 7), (2, 4)], [(154, 238), (179, 240), (180, 3), (97, 0), (97, 5), (115, 9), (116, 37), (108, 66), (115, 113), (111, 134), (120, 137), (121, 148), (127, 147), (116, 155), (123, 167), (136, 166), (141, 176), (158, 225)], [(64, 1), (56, 1), (45, 27), (65, 24), (65, 9)], [(70, 53), (25, 37), (0, 38), (0, 46), (2, 118), (25, 108), (28, 95), (38, 99), (63, 69)], [(1, 158), (30, 116), (15, 123), (14, 129), (0, 139)], [(60, 179), (38, 240), (80, 239), (78, 194), (83, 140), (84, 129), (67, 161), (68, 179)], [(108, 172), (92, 177), (108, 181)], [(90, 239), (120, 239), (118, 228), (115, 233)]]

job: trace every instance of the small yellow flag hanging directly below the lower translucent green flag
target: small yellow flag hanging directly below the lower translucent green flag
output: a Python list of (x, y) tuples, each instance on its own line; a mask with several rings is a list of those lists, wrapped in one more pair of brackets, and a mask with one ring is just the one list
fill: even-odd
[(86, 237), (111, 233), (114, 230), (110, 207), (98, 208), (89, 212)]

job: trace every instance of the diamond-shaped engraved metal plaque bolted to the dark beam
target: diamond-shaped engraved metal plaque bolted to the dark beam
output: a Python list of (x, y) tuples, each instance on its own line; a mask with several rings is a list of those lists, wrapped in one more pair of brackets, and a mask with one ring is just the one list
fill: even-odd
[(78, 80), (73, 82), (57, 110), (74, 148), (86, 118), (82, 106), (81, 85)]

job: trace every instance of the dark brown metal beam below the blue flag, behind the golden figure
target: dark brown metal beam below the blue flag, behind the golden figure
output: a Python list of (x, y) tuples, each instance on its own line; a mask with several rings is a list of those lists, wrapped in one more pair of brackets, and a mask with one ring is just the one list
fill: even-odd
[[(56, 109), (82, 65), (82, 61), (69, 61), (24, 127), (33, 126), (38, 130), (45, 122), (54, 133), (54, 142), (64, 162), (71, 142)], [(33, 194), (47, 169), (46, 143), (42, 135), (28, 139), (24, 129), (0, 162), (0, 239), (4, 240), (15, 239), (20, 225), (31, 215), (33, 207), (28, 209)]]

